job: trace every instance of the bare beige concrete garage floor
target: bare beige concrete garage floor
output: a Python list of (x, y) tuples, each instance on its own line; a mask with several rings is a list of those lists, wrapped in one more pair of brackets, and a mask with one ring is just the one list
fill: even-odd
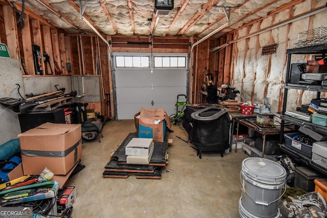
[(110, 154), (126, 136), (136, 132), (134, 120), (110, 120), (103, 126), (103, 138), (83, 143), (81, 163), (86, 167), (74, 175), (67, 186), (76, 186), (73, 217), (240, 217), (240, 171), (249, 157), (234, 150), (197, 156), (179, 125), (169, 133), (169, 163), (161, 179), (136, 179), (135, 176), (103, 178)]

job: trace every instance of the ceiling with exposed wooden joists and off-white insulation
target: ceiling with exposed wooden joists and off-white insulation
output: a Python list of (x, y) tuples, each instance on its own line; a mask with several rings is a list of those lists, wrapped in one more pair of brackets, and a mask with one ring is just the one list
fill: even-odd
[[(10, 2), (21, 8), (22, 0)], [(94, 33), (81, 19), (81, 3), (82, 7), (85, 6), (83, 16), (102, 34), (202, 38), (227, 22), (223, 7), (232, 7), (229, 14), (230, 25), (214, 37), (238, 29), (244, 23), (265, 17), (290, 2), (292, 1), (175, 0), (174, 9), (168, 17), (155, 17), (153, 0), (25, 0), (25, 9), (67, 33)], [(155, 30), (151, 21), (157, 23)]]

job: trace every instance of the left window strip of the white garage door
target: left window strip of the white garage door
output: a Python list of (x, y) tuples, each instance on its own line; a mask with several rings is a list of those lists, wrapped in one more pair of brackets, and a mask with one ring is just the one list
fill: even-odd
[(115, 56), (116, 67), (149, 67), (149, 56)]

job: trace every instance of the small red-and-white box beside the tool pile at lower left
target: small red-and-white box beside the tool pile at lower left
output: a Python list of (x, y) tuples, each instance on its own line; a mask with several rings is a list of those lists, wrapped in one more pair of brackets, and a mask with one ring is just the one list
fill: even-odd
[[(74, 186), (62, 187), (58, 190), (57, 196), (57, 208), (69, 208), (72, 207), (76, 201), (76, 188)], [(63, 211), (58, 211), (63, 212)]]

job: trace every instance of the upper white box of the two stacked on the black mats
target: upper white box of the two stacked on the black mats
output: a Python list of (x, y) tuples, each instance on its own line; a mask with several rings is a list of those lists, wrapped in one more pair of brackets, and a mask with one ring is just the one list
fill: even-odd
[(132, 138), (125, 147), (125, 155), (148, 157), (153, 148), (152, 138)]

